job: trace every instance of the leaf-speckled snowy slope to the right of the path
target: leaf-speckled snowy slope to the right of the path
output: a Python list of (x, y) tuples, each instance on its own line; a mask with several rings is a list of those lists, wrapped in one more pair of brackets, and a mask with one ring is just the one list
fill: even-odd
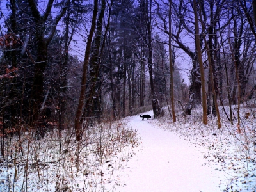
[(202, 123), (202, 108), (193, 109), (193, 113), (186, 117), (180, 113), (174, 124), (168, 116), (152, 122), (161, 129), (176, 132), (195, 147), (202, 158), (207, 160), (205, 165), (227, 178), (220, 182), (220, 186), (227, 186), (225, 191), (256, 191), (256, 108), (244, 104), (240, 109), (239, 132), (237, 108), (233, 107), (233, 125), (227, 120), (223, 109), (220, 109), (220, 129), (214, 116), (208, 116), (208, 125)]

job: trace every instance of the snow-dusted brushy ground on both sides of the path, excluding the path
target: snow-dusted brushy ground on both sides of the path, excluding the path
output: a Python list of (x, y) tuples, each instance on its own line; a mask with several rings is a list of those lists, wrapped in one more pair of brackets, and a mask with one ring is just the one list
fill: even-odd
[[(174, 124), (166, 111), (163, 117), (148, 122), (175, 132), (195, 147), (205, 159), (204, 166), (225, 176), (221, 189), (255, 191), (255, 109), (245, 104), (241, 108), (241, 132), (236, 106), (233, 125), (220, 110), (221, 129), (211, 115), (208, 125), (202, 124), (201, 108), (186, 117), (178, 112)], [(20, 137), (14, 135), (5, 141), (6, 158), (0, 158), (1, 191), (114, 191), (122, 182), (119, 172), (136, 154), (140, 135), (120, 120), (88, 127), (79, 142), (74, 129), (64, 129), (61, 134), (52, 129), (43, 138), (37, 138), (35, 132), (22, 132)]]

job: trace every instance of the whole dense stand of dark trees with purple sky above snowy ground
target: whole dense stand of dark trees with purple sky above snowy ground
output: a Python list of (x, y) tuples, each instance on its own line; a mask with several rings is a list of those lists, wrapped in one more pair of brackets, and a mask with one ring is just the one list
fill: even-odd
[[(255, 1), (1, 1), (0, 126), (4, 138), (154, 117), (254, 98)], [(188, 79), (188, 80), (186, 80)], [(239, 126), (238, 126), (239, 129)], [(61, 134), (60, 134), (61, 135)], [(61, 145), (60, 145), (61, 146)]]

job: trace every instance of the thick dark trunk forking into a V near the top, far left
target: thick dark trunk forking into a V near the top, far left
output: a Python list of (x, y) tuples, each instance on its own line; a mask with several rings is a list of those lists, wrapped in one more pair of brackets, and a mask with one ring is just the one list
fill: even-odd
[(45, 22), (49, 15), (51, 15), (51, 9), (53, 6), (54, 0), (49, 0), (47, 7), (45, 8), (45, 12), (43, 15), (40, 14), (38, 10), (38, 4), (34, 0), (28, 0), (29, 7), (31, 9), (31, 13), (33, 15), (33, 20), (36, 23), (35, 29), (35, 39), (37, 46), (37, 57), (35, 63), (34, 70), (34, 81), (33, 88), (31, 94), (31, 105), (32, 105), (32, 123), (38, 119), (40, 111), (42, 111), (42, 104), (44, 101), (44, 72), (45, 67), (47, 65), (47, 49), (48, 45), (51, 42), (54, 33), (56, 31), (56, 27), (60, 19), (63, 17), (64, 13), (67, 10), (67, 0), (63, 1), (63, 8), (56, 15), (56, 17), (52, 20), (52, 25), (49, 28), (49, 32), (45, 35)]

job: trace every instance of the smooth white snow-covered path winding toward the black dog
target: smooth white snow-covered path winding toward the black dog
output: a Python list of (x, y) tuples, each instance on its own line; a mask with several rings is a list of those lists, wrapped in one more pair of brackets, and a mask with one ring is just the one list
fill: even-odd
[(127, 162), (130, 172), (123, 176), (120, 191), (220, 191), (220, 173), (204, 165), (195, 147), (150, 124), (154, 119), (143, 121), (139, 115), (125, 119), (138, 130), (143, 146)]

